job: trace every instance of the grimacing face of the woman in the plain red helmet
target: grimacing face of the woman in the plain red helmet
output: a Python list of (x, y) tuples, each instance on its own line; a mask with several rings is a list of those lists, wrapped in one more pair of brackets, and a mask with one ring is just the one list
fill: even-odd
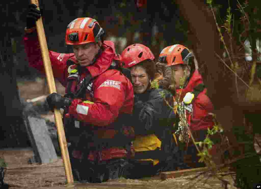
[(134, 93), (144, 93), (149, 85), (150, 79), (146, 70), (141, 66), (133, 66), (131, 68), (131, 79)]

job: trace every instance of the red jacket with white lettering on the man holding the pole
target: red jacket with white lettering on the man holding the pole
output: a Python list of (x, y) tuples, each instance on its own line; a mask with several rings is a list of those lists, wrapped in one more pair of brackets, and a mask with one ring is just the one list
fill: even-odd
[[(44, 74), (43, 59), (37, 33), (26, 34), (24, 43), (29, 66), (36, 68)], [(101, 136), (103, 136), (103, 133), (104, 135), (111, 133), (108, 131), (114, 129), (113, 123), (120, 115), (132, 114), (134, 102), (131, 82), (120, 71), (108, 70), (112, 61), (116, 58), (114, 43), (104, 41), (102, 48), (103, 52), (93, 65), (82, 67), (79, 80), (80, 83), (89, 71), (94, 78), (92, 86), (93, 96), (86, 93), (85, 100), (73, 99), (68, 109), (70, 116), (80, 121), (81, 127), (83, 125), (88, 127), (88, 129), (93, 129), (94, 133), (97, 132)], [(70, 59), (77, 64), (74, 54), (49, 51), (49, 56), (54, 77), (66, 87), (69, 75), (67, 60)], [(105, 148), (99, 151), (99, 159), (121, 158), (125, 157), (126, 154), (127, 151), (124, 148)], [(74, 152), (74, 156), (82, 158), (81, 152)], [(88, 155), (89, 160), (95, 160), (96, 158), (98, 157), (95, 151), (90, 152)]]

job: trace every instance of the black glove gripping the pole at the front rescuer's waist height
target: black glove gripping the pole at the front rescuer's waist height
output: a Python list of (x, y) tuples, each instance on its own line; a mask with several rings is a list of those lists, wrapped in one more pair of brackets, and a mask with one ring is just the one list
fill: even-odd
[(72, 103), (72, 100), (69, 98), (65, 98), (62, 95), (59, 95), (57, 93), (52, 93), (47, 98), (47, 103), (49, 107), (53, 110), (54, 108), (63, 108), (64, 106), (70, 106)]

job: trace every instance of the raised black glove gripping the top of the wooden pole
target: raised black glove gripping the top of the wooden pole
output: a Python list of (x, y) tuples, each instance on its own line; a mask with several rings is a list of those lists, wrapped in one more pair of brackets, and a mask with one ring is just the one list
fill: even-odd
[(37, 9), (35, 4), (29, 4), (28, 13), (26, 16), (26, 28), (35, 27), (35, 21), (37, 21), (41, 17), (41, 11)]

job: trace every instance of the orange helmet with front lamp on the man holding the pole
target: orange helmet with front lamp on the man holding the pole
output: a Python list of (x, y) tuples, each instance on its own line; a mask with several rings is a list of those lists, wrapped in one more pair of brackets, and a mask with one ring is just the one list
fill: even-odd
[(98, 42), (104, 34), (99, 23), (93, 18), (76, 18), (66, 29), (65, 42), (67, 45), (80, 45)]

